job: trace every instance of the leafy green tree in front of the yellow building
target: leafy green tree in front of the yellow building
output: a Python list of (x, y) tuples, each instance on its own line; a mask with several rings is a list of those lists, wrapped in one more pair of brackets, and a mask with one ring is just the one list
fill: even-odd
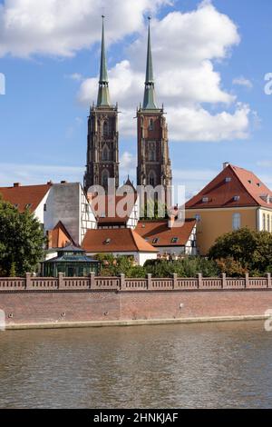
[(231, 258), (253, 275), (266, 273), (272, 264), (272, 234), (256, 232), (249, 228), (224, 234), (210, 248), (209, 258)]

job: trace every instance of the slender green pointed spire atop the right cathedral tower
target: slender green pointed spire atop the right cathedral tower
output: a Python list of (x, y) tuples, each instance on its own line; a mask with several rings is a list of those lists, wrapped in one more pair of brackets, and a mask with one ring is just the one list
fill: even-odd
[(144, 89), (144, 98), (143, 98), (142, 108), (143, 110), (158, 109), (156, 104), (156, 96), (155, 96), (152, 52), (151, 52), (151, 17), (149, 17), (148, 52), (147, 52), (145, 89)]

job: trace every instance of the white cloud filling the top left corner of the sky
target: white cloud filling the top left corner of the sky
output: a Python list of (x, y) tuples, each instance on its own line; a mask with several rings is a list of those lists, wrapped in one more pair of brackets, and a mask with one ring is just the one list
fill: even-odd
[(141, 30), (143, 14), (168, 0), (5, 0), (0, 5), (0, 56), (72, 56), (101, 38), (105, 6), (107, 40)]

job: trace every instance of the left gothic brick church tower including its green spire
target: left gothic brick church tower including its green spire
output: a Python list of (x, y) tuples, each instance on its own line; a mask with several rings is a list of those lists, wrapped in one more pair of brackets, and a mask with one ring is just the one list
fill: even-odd
[(102, 16), (102, 51), (97, 104), (92, 105), (88, 120), (87, 165), (84, 189), (102, 185), (107, 191), (108, 179), (119, 186), (118, 107), (111, 104)]

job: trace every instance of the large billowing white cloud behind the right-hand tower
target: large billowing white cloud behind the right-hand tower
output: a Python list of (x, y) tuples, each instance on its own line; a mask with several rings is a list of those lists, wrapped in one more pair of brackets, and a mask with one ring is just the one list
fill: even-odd
[[(159, 104), (168, 113), (172, 141), (224, 141), (248, 137), (250, 108), (222, 85), (214, 60), (229, 56), (239, 43), (238, 29), (210, 2), (189, 13), (173, 12), (152, 20), (152, 50)], [(112, 103), (120, 105), (120, 130), (136, 135), (136, 106), (143, 97), (146, 31), (129, 47), (127, 58), (109, 70)], [(91, 104), (97, 77), (86, 79), (78, 99)], [(211, 114), (203, 104), (217, 111)], [(223, 106), (225, 107), (223, 108)]]

